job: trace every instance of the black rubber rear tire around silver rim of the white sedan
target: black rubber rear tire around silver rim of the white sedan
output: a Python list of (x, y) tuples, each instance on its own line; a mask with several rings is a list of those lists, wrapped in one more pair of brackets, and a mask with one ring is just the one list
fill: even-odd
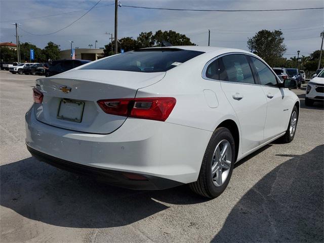
[[(216, 186), (211, 176), (212, 160), (213, 160), (216, 146), (222, 140), (227, 140), (231, 145), (232, 159), (231, 159), (231, 165), (230, 168), (228, 169), (229, 172), (225, 182), (221, 186)], [(198, 180), (196, 182), (190, 183), (189, 187), (195, 193), (204, 197), (215, 198), (219, 196), (220, 194), (222, 194), (222, 192), (225, 190), (225, 188), (228, 185), (228, 182), (233, 172), (234, 162), (235, 162), (235, 143), (231, 132), (227, 128), (216, 129), (207, 145), (203, 162), (201, 163)]]

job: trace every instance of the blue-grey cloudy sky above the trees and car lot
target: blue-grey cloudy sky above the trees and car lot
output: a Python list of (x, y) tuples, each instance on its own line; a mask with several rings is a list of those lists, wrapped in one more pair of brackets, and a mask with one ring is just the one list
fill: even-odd
[[(18, 35), (21, 42), (31, 42), (44, 48), (52, 41), (61, 50), (73, 48), (104, 47), (114, 32), (114, 1), (102, 0), (92, 11), (68, 28), (51, 35), (85, 14), (99, 0), (0, 0), (0, 42), (16, 43), (15, 26), (20, 23)], [(211, 30), (211, 46), (248, 50), (248, 37), (261, 29), (281, 29), (285, 37), (285, 57), (303, 55), (320, 49), (320, 32), (324, 27), (324, 10), (285, 12), (189, 12), (148, 10), (123, 7), (143, 6), (185, 9), (292, 9), (324, 7), (323, 0), (121, 0), (118, 8), (118, 39), (136, 38), (140, 32), (174, 30), (186, 34), (199, 46), (208, 45), (208, 29)], [(66, 12), (72, 12), (65, 14)], [(48, 15), (52, 17), (38, 18)], [(24, 32), (23, 30), (29, 32)], [(296, 53), (296, 54), (295, 54)]]

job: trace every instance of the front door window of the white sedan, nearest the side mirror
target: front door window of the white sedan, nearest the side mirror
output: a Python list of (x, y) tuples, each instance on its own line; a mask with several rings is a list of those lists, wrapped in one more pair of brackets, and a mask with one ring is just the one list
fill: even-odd
[(277, 78), (262, 61), (255, 57), (250, 57), (252, 63), (256, 69), (257, 75), (259, 76), (260, 85), (266, 86), (276, 86), (277, 85)]

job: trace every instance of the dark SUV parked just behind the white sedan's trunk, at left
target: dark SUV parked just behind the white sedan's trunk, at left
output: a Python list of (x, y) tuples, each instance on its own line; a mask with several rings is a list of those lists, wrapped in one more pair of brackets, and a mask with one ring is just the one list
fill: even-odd
[(46, 76), (53, 76), (53, 75), (59, 74), (61, 72), (70, 70), (72, 68), (81, 66), (83, 64), (89, 63), (89, 62), (91, 62), (91, 61), (89, 61), (89, 60), (57, 60), (57, 61), (53, 61), (46, 73)]

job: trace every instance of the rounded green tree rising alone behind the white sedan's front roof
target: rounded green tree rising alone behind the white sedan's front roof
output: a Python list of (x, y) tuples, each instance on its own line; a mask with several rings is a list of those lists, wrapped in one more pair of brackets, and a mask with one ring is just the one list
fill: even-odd
[(287, 50), (284, 39), (281, 30), (263, 29), (248, 39), (248, 48), (273, 67)]

